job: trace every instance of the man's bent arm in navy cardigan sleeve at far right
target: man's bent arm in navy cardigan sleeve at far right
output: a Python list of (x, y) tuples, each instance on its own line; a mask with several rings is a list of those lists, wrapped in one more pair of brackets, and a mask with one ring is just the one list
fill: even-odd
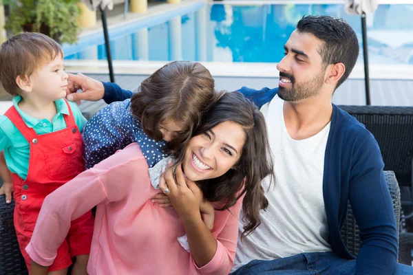
[(371, 134), (354, 148), (353, 157), (349, 199), (362, 240), (356, 274), (393, 274), (398, 254), (396, 219), (379, 145)]

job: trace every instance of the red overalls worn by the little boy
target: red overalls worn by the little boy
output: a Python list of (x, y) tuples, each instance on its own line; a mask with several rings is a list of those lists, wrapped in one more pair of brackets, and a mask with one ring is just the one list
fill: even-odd
[[(83, 143), (69, 104), (70, 115), (63, 115), (66, 128), (60, 131), (37, 135), (29, 128), (14, 107), (5, 115), (28, 140), (30, 159), (28, 177), (12, 174), (14, 201), (14, 228), (25, 263), (30, 270), (31, 259), (25, 252), (30, 242), (41, 205), (47, 195), (73, 179), (83, 171)], [(72, 257), (89, 254), (92, 243), (94, 218), (87, 212), (72, 221), (69, 233), (57, 251), (49, 272), (63, 270), (72, 264)]]

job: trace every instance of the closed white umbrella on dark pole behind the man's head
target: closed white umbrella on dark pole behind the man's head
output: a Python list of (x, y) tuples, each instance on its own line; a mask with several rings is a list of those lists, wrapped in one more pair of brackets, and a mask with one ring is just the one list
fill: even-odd
[(378, 0), (346, 0), (345, 9), (348, 14), (361, 15), (361, 32), (363, 34), (364, 77), (366, 83), (366, 104), (370, 105), (370, 77), (368, 74), (368, 41), (366, 14), (372, 14), (379, 6)]

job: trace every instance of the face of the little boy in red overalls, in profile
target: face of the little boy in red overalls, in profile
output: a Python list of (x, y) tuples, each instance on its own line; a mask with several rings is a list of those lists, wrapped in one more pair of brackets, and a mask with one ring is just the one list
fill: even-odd
[(63, 70), (62, 56), (56, 56), (50, 63), (39, 67), (31, 76), (32, 92), (44, 100), (65, 98), (67, 74)]

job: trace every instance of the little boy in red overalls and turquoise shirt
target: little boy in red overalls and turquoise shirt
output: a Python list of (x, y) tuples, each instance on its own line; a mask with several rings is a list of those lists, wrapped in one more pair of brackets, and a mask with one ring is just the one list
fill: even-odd
[[(83, 171), (86, 120), (64, 99), (63, 52), (48, 36), (26, 32), (12, 37), (1, 45), (0, 64), (0, 83), (14, 96), (13, 106), (0, 115), (0, 175), (3, 189), (14, 189), (14, 227), (30, 270), (25, 247), (43, 200)], [(66, 274), (76, 256), (72, 274), (87, 274), (93, 226), (91, 212), (72, 221), (49, 272)]]

